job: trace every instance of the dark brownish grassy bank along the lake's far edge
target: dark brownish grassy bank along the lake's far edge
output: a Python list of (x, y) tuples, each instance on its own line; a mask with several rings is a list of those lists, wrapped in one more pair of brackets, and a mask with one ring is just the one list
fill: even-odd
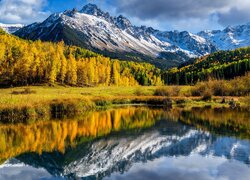
[[(222, 103), (221, 99), (225, 102)], [(180, 107), (192, 108), (227, 108), (232, 97), (213, 97), (210, 101), (204, 101), (201, 97), (160, 97), (160, 96), (126, 96), (126, 97), (82, 97), (79, 99), (53, 99), (43, 103), (35, 103), (20, 107), (0, 108), (0, 124), (6, 123), (33, 123), (37, 120), (48, 121), (51, 119), (65, 119), (74, 117), (88, 111), (98, 111), (122, 106), (149, 106), (171, 109)], [(244, 97), (234, 97), (238, 106), (250, 111), (244, 104)], [(240, 100), (239, 100), (240, 98)]]

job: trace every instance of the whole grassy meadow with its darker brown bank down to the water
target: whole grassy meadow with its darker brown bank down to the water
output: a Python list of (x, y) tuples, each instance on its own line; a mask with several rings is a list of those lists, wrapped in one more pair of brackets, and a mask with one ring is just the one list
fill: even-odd
[[(117, 104), (163, 106), (229, 107), (232, 97), (191, 96), (192, 86), (63, 87), (29, 86), (0, 90), (0, 122), (34, 122), (38, 119), (67, 118), (89, 110)], [(249, 97), (233, 97), (249, 108)]]

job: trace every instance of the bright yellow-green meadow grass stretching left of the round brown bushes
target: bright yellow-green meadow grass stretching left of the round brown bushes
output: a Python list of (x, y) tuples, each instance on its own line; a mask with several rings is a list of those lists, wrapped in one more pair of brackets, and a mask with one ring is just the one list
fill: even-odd
[[(140, 87), (48, 87), (29, 86), (35, 93), (12, 94), (13, 91), (23, 91), (27, 87), (8, 88), (0, 90), (0, 109), (7, 107), (23, 107), (46, 103), (52, 100), (91, 99), (93, 97), (121, 97), (134, 96)], [(156, 87), (143, 87), (140, 90), (145, 95), (153, 95)]]

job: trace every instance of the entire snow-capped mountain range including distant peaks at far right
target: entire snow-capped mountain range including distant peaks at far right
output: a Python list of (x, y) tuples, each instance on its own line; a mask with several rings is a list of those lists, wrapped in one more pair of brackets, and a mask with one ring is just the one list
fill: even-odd
[[(137, 27), (124, 16), (112, 17), (94, 4), (52, 14), (44, 22), (26, 26), (15, 35), (32, 40), (61, 41), (115, 57), (136, 55), (143, 60), (177, 63), (217, 50), (250, 45), (249, 24), (223, 31), (159, 31)], [(129, 58), (128, 58), (129, 59)], [(169, 61), (167, 61), (169, 60)], [(164, 64), (163, 63), (163, 64)]]

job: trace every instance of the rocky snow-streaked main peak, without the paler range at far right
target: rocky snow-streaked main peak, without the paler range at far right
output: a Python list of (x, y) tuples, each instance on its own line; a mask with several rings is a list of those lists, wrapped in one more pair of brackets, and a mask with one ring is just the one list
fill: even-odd
[(42, 23), (23, 28), (17, 35), (29, 37), (30, 32), (33, 32), (37, 34), (33, 39), (42, 39), (52, 31), (46, 29), (53, 29), (58, 24), (70, 27), (86, 37), (88, 46), (109, 52), (139, 53), (156, 58), (163, 52), (182, 52), (188, 57), (197, 57), (214, 51), (206, 39), (197, 35), (133, 26), (126, 17), (112, 17), (93, 4), (84, 6), (80, 11), (73, 9), (52, 14)]

